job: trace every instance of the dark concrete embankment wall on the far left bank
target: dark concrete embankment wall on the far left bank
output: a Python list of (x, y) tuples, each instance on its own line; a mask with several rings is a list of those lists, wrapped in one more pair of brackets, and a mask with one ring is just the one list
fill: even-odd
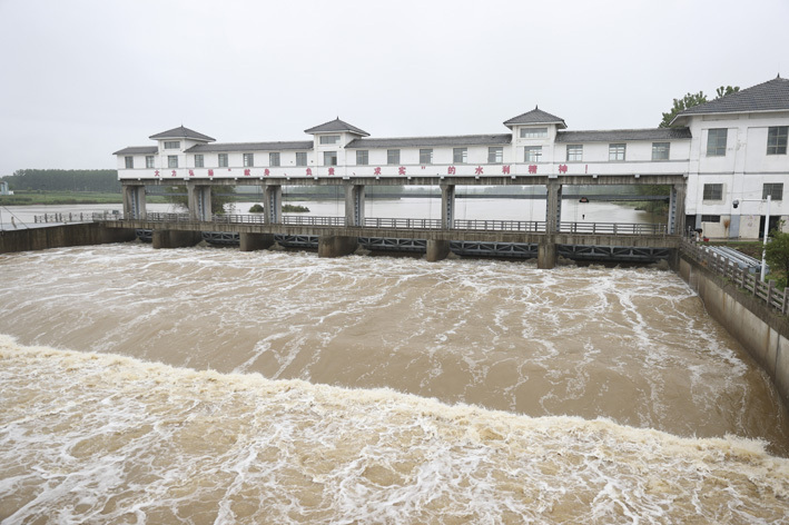
[(20, 228), (0, 231), (0, 254), (125, 242), (134, 239), (134, 229), (105, 228), (96, 222)]

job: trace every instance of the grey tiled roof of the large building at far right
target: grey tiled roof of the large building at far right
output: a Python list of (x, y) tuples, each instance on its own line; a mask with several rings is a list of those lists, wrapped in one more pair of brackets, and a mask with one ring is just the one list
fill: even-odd
[(776, 77), (752, 88), (742, 89), (707, 103), (693, 106), (674, 117), (672, 123), (690, 115), (746, 113), (789, 110), (789, 79)]

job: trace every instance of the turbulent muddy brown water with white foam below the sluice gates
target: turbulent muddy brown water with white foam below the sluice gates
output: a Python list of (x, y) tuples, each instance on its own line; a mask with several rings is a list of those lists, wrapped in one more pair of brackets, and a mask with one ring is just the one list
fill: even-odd
[(670, 273), (141, 244), (0, 270), (3, 524), (789, 523), (783, 408)]

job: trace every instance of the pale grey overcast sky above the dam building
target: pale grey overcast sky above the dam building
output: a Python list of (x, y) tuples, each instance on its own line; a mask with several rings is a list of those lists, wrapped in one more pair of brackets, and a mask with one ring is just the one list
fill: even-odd
[(219, 142), (657, 127), (673, 98), (789, 76), (787, 0), (0, 0), (0, 176)]

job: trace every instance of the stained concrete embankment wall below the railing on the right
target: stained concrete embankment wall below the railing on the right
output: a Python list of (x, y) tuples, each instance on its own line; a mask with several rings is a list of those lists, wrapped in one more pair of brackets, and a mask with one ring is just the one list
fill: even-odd
[(762, 367), (789, 407), (789, 319), (731, 280), (680, 257), (679, 274), (701, 297), (707, 311), (723, 325)]

